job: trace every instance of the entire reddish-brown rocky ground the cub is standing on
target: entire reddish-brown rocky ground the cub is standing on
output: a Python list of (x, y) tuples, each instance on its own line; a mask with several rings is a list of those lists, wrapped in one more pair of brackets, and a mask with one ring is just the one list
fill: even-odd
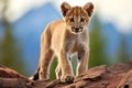
[(97, 66), (65, 84), (57, 79), (32, 81), (0, 65), (0, 88), (132, 88), (132, 62)]

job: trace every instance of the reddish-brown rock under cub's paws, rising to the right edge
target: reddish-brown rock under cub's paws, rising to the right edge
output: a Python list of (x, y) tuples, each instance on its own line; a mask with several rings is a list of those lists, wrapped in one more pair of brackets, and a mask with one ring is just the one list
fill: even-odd
[(132, 88), (132, 62), (94, 67), (78, 76), (73, 84), (58, 80), (40, 82), (34, 84), (33, 88)]

